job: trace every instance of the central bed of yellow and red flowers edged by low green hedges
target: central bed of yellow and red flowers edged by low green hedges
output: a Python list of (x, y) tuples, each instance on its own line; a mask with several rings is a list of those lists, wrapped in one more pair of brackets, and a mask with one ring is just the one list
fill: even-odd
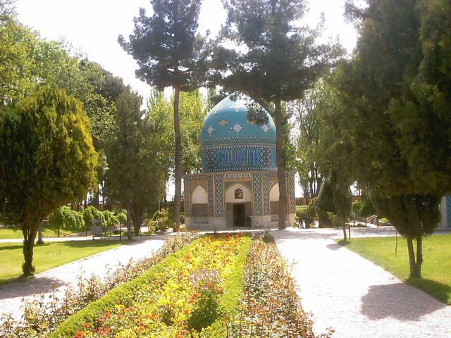
[(89, 304), (51, 337), (217, 337), (224, 318), (236, 315), (250, 246), (242, 234), (205, 235)]

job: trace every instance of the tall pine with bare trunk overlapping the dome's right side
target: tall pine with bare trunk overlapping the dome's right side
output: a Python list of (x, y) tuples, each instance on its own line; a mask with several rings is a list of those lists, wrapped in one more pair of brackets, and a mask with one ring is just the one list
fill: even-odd
[[(319, 30), (299, 27), (306, 11), (302, 0), (224, 0), (228, 10), (223, 35), (240, 51), (218, 51), (218, 65), (231, 74), (222, 79), (228, 90), (240, 90), (274, 107), (277, 130), (279, 228), (285, 229), (287, 194), (283, 154), (283, 101), (299, 99), (328, 68), (340, 49), (317, 46)], [(224, 61), (228, 62), (224, 62)]]

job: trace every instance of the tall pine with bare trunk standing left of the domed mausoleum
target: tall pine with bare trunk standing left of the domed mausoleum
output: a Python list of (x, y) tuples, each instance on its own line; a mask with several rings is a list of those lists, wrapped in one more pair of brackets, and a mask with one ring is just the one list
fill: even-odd
[(206, 40), (197, 33), (202, 0), (151, 0), (153, 14), (134, 19), (135, 31), (125, 41), (118, 41), (139, 65), (136, 75), (141, 80), (162, 90), (173, 87), (173, 115), (175, 134), (174, 219), (175, 230), (180, 226), (180, 199), (182, 182), (182, 137), (180, 133), (180, 91), (197, 89), (208, 71)]

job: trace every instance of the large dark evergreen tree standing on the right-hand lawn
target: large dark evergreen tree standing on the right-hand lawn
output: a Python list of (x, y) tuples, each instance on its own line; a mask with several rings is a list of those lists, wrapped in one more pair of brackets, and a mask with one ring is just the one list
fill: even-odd
[(449, 138), (443, 135), (450, 130), (449, 111), (443, 100), (422, 111), (417, 99), (431, 46), (419, 39), (420, 2), (348, 6), (359, 19), (360, 37), (352, 61), (343, 61), (330, 81), (333, 104), (322, 117), (328, 135), (323, 156), (369, 187), (378, 214), (406, 237), (412, 277), (421, 277), (423, 238), (438, 224), (440, 197), (451, 190)]

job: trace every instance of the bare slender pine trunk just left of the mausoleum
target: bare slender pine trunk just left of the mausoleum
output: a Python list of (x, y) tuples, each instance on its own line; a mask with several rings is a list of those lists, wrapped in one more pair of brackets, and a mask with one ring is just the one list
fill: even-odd
[(175, 229), (180, 228), (180, 200), (182, 198), (182, 136), (180, 134), (180, 114), (178, 106), (180, 89), (175, 87), (174, 92), (174, 134), (175, 134), (175, 195), (174, 195), (174, 221)]

